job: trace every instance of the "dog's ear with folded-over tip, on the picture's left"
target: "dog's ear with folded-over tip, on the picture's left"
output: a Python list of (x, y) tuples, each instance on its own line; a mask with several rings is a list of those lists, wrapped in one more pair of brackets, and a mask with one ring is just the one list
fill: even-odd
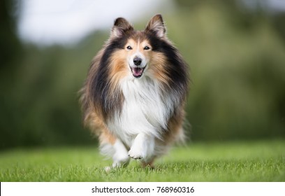
[(129, 31), (133, 31), (133, 26), (124, 18), (117, 18), (112, 27), (111, 36), (122, 37)]

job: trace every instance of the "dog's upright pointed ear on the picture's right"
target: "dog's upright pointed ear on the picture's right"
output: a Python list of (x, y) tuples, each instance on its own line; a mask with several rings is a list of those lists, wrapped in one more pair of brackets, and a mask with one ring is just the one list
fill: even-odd
[(152, 19), (149, 20), (147, 27), (145, 28), (145, 31), (152, 31), (159, 38), (165, 36), (166, 27), (163, 24), (162, 15), (160, 14), (154, 15), (154, 17), (152, 17)]

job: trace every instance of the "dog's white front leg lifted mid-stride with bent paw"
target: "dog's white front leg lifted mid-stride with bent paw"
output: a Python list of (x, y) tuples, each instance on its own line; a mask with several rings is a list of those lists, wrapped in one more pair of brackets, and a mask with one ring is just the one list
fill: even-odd
[(133, 159), (142, 159), (144, 161), (152, 158), (154, 154), (154, 137), (144, 133), (137, 135), (129, 151), (129, 157)]

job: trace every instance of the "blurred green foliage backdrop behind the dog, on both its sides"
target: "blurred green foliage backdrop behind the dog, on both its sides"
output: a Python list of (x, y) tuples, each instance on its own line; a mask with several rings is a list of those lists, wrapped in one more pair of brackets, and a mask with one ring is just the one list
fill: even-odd
[[(285, 12), (254, 2), (177, 0), (158, 10), (191, 68), (191, 141), (285, 138)], [(78, 90), (109, 31), (73, 45), (23, 42), (15, 4), (0, 1), (0, 150), (96, 144)]]

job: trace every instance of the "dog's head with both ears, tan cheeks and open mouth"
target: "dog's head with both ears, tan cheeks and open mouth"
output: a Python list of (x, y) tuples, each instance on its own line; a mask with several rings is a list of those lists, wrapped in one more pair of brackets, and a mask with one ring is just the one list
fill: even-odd
[(117, 18), (110, 37), (117, 45), (117, 50), (112, 55), (112, 73), (117, 76), (120, 74), (119, 78), (159, 74), (156, 73), (161, 69), (158, 66), (165, 57), (154, 50), (157, 47), (151, 40), (163, 39), (165, 32), (161, 15), (155, 15), (144, 31), (136, 31), (124, 18)]

